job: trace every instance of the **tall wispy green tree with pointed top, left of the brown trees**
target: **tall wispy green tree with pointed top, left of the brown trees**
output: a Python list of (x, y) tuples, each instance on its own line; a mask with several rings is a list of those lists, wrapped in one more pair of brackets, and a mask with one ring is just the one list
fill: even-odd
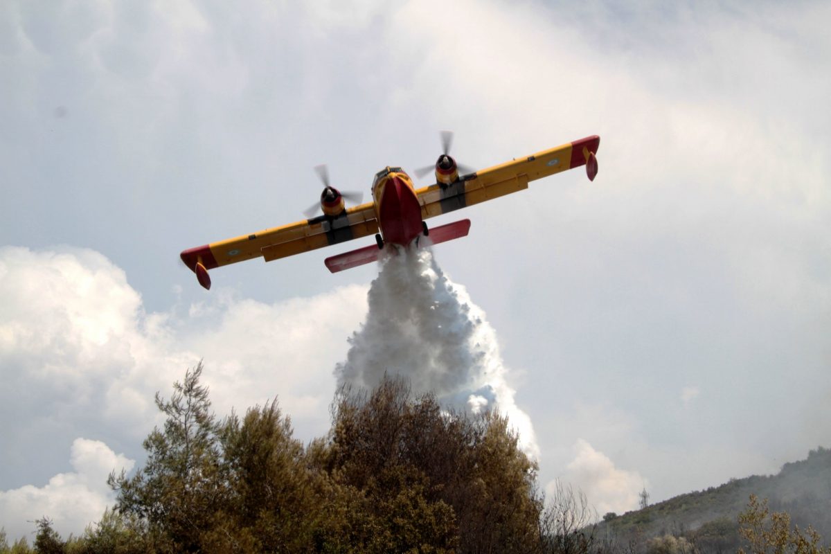
[(164, 429), (153, 429), (145, 439), (145, 467), (132, 478), (122, 471), (108, 483), (118, 493), (116, 509), (145, 520), (153, 541), (179, 551), (199, 550), (202, 532), (222, 519), (227, 495), (220, 475), (218, 426), (210, 411), (208, 388), (199, 385), (200, 361), (175, 382), (165, 401), (155, 395), (156, 406), (167, 415)]

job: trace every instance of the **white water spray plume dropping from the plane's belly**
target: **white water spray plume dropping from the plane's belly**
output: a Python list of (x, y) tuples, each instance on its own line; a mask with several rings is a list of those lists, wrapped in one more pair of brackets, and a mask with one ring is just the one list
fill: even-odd
[(499, 409), (519, 432), (524, 453), (539, 458), (531, 419), (506, 380), (494, 328), (465, 287), (445, 276), (429, 247), (399, 248), (381, 259), (366, 322), (349, 342), (347, 360), (335, 370), (339, 385), (371, 388), (385, 373), (401, 375), (416, 394), (432, 391), (444, 405), (474, 414)]

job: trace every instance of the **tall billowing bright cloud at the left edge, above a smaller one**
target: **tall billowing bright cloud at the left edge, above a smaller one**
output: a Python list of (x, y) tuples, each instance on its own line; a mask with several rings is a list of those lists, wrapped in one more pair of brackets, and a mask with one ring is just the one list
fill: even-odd
[(18, 422), (0, 439), (4, 485), (48, 470), (52, 457), (16, 454), (66, 448), (47, 437), (135, 440), (155, 420), (153, 391), (199, 360), (98, 252), (0, 248), (0, 289), (0, 414)]

